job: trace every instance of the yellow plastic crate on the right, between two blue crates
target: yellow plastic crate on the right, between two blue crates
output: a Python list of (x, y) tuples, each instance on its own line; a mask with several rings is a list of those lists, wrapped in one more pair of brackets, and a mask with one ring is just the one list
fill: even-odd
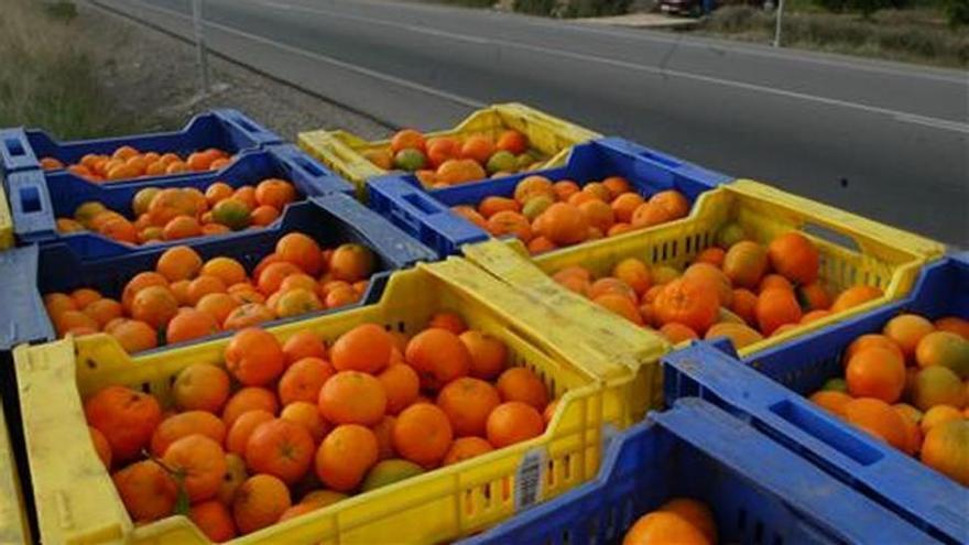
[[(699, 252), (714, 246), (717, 231), (729, 221), (737, 221), (762, 243), (784, 232), (802, 230), (818, 247), (820, 277), (829, 287), (840, 291), (862, 283), (884, 292), (883, 297), (864, 305), (744, 347), (740, 350), (741, 356), (904, 297), (912, 290), (923, 264), (945, 253), (945, 247), (939, 242), (749, 179), (736, 181), (700, 195), (686, 218), (531, 259), (524, 257), (527, 252), (516, 241), (510, 246), (482, 242), (462, 250), (468, 259), (520, 291), (545, 301), (555, 297), (557, 307), (571, 313), (576, 320), (583, 320), (585, 329), (594, 330), (598, 318), (583, 316), (587, 313), (583, 310), (587, 301), (562, 288), (549, 274), (569, 265), (581, 265), (594, 275), (605, 275), (625, 258), (682, 269)], [(614, 340), (606, 350), (621, 355), (629, 350), (629, 344)]]

